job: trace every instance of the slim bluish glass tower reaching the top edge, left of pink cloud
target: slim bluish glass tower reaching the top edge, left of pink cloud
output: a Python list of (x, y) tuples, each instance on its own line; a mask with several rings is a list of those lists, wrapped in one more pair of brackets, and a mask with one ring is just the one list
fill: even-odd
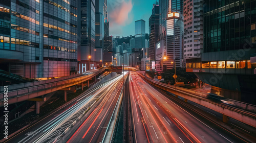
[[(95, 62), (102, 64), (104, 47), (104, 0), (95, 0)], [(101, 62), (100, 62), (101, 61)]]

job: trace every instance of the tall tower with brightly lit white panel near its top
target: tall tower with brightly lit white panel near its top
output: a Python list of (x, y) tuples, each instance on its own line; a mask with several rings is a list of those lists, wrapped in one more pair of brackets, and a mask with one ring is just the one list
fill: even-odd
[[(156, 61), (157, 67), (162, 70), (182, 67), (183, 55), (183, 1), (159, 1), (159, 40), (163, 40), (163, 51), (156, 57), (162, 55), (161, 60)], [(158, 51), (159, 52), (159, 51)], [(161, 69), (157, 69), (160, 71)]]

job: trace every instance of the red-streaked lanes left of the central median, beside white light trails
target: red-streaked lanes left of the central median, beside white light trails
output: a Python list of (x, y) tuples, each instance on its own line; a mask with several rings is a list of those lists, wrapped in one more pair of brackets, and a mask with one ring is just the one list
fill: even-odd
[[(90, 116), (74, 132), (68, 142), (102, 142), (108, 128), (110, 118), (121, 94), (123, 87), (122, 78), (111, 84), (104, 92), (104, 98), (93, 109)], [(66, 141), (65, 141), (66, 142)]]

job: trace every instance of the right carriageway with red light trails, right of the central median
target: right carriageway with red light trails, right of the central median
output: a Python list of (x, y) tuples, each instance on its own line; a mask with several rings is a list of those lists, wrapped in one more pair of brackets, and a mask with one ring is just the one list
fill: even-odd
[(246, 142), (166, 98), (137, 73), (132, 72), (129, 80), (136, 142)]

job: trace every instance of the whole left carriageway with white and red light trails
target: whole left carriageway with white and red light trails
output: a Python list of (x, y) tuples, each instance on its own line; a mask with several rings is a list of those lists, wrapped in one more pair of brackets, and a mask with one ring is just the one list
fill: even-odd
[[(109, 119), (109, 114), (112, 112), (113, 106), (118, 99), (118, 96), (116, 96), (116, 94), (118, 92), (120, 93), (120, 89), (122, 87), (121, 85), (123, 82), (122, 79), (123, 76), (118, 76), (117, 78), (86, 92), (80, 98), (77, 98), (76, 100), (63, 106), (49, 116), (45, 117), (43, 120), (37, 122), (36, 124), (30, 126), (29, 128), (10, 138), (6, 142), (53, 142), (59, 135), (61, 135), (61, 133), (63, 133), (68, 127), (70, 127), (72, 123), (74, 123), (74, 121), (76, 121), (77, 118), (82, 115), (83, 112), (86, 111), (98, 98), (99, 99), (97, 102), (100, 103), (99, 106), (97, 106), (96, 109), (93, 109), (93, 106), (91, 108), (93, 109), (93, 111), (91, 111), (92, 113), (90, 115), (85, 114), (86, 116), (89, 116), (85, 122), (90, 122), (90, 125), (92, 123), (99, 123), (99, 125), (97, 125), (97, 129), (105, 130), (107, 123), (106, 119)], [(111, 96), (112, 94), (114, 96)], [(95, 114), (97, 117), (95, 117)], [(94, 117), (95, 120), (92, 120), (92, 117)], [(89, 128), (91, 130), (99, 131), (95, 128), (95, 126), (89, 126)], [(102, 134), (103, 131), (101, 131), (99, 134), (97, 132), (95, 133), (95, 136), (101, 136)], [(87, 136), (86, 132), (83, 132), (81, 139), (89, 140), (88, 137), (92, 136), (94, 136), (94, 133), (92, 131), (90, 131)], [(78, 139), (78, 137), (73, 139)], [(90, 140), (92, 142), (95, 142), (95, 139), (99, 138), (91, 139)], [(77, 141), (70, 140), (69, 142)]]

